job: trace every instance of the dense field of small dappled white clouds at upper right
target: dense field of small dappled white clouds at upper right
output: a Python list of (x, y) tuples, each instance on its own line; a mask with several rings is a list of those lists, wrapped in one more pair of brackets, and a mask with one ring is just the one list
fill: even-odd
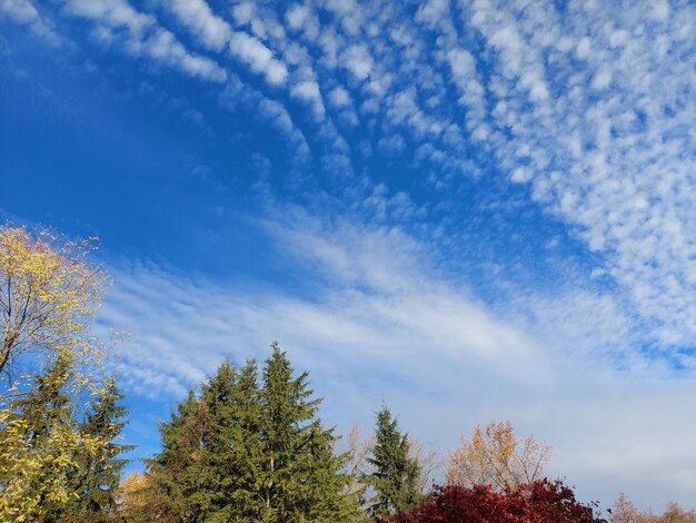
[(665, 348), (694, 346), (694, 71), (666, 49), (692, 52), (684, 34), (696, 21), (679, 10), (658, 29), (646, 26), (645, 6), (588, 6), (570, 2), (563, 18), (538, 4), (465, 8), (499, 53), (488, 62), (485, 88), (497, 102), (486, 145), (513, 181), (529, 182), (605, 257)]

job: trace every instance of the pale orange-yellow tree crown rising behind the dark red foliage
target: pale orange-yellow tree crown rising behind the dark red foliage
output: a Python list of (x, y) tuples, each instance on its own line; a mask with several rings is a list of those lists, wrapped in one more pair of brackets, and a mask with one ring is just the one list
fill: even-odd
[(448, 452), (447, 483), (463, 486), (490, 485), (496, 490), (518, 490), (543, 477), (551, 447), (534, 436), (519, 445), (510, 422), (490, 423), (474, 430), (471, 440)]

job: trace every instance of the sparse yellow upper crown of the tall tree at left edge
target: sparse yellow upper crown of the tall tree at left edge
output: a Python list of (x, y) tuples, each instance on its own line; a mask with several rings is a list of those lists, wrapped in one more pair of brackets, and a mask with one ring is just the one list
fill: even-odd
[(0, 376), (10, 385), (17, 362), (29, 353), (83, 356), (96, 349), (86, 330), (106, 275), (87, 260), (95, 239), (0, 226)]

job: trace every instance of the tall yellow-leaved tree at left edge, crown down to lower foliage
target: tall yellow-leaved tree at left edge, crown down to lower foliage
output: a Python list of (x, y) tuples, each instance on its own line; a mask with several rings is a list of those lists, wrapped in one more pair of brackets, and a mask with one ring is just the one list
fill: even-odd
[(84, 397), (106, 394), (86, 366), (101, 353), (89, 320), (106, 283), (92, 249), (91, 239), (0, 226), (0, 522), (74, 513), (88, 490), (80, 463), (112, 452), (122, 426), (92, 434), (80, 424), (93, 406)]

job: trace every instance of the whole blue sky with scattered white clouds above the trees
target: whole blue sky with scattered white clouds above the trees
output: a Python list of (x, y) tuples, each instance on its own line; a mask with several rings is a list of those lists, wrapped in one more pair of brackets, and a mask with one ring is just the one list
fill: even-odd
[(338, 433), (696, 509), (695, 122), (693, 1), (0, 0), (0, 218), (100, 238), (141, 457), (277, 339)]

